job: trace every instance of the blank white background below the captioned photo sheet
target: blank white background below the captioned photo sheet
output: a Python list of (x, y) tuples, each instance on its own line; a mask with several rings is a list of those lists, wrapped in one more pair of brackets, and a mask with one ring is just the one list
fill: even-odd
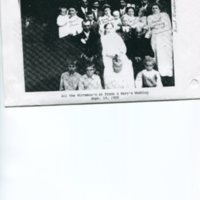
[(1, 200), (200, 199), (200, 101), (5, 109), (0, 73)]

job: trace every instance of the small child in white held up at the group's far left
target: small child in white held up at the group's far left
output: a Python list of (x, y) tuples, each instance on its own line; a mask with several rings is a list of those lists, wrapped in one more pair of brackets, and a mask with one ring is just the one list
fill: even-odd
[(68, 35), (68, 20), (69, 16), (67, 13), (67, 8), (65, 7), (60, 8), (60, 14), (57, 17), (59, 38), (63, 38)]

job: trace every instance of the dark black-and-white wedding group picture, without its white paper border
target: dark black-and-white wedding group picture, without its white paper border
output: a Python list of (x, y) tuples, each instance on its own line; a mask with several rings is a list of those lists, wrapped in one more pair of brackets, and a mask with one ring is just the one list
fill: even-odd
[(171, 0), (21, 0), (26, 92), (175, 86)]

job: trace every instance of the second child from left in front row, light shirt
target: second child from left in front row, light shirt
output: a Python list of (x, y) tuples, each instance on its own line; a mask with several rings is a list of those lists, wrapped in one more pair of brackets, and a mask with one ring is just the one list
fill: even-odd
[(86, 66), (86, 74), (82, 76), (79, 82), (79, 90), (98, 90), (102, 89), (100, 77), (95, 73), (93, 64)]

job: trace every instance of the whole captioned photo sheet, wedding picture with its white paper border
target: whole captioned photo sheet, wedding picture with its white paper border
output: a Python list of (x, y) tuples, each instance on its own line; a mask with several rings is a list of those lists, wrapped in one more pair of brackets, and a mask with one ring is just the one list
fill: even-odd
[(1, 1), (5, 105), (200, 98), (197, 8), (188, 0)]

